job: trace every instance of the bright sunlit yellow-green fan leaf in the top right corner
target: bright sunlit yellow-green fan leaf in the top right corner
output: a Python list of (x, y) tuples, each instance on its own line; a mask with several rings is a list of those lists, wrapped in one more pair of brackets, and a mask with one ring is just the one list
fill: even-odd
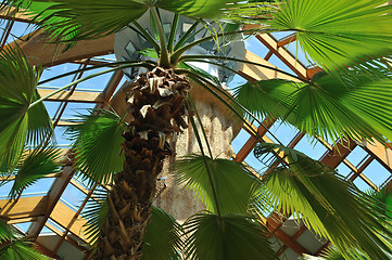
[(271, 29), (294, 30), (303, 51), (327, 69), (391, 54), (391, 6), (385, 0), (295, 0), (278, 3)]

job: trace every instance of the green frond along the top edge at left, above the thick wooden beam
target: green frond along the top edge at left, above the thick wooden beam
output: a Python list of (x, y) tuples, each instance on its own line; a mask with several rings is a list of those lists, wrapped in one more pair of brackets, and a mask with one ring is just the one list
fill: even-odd
[[(24, 2), (26, 13), (54, 41), (91, 39), (114, 34), (139, 18), (148, 6), (139, 1), (34, 0)], [(15, 4), (15, 3), (14, 3)]]

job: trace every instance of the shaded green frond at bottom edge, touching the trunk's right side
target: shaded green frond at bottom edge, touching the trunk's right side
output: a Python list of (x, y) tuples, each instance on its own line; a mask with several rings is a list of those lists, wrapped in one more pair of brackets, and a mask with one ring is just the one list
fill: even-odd
[(179, 260), (184, 247), (182, 229), (164, 210), (152, 207), (151, 220), (143, 237), (144, 246), (141, 260)]

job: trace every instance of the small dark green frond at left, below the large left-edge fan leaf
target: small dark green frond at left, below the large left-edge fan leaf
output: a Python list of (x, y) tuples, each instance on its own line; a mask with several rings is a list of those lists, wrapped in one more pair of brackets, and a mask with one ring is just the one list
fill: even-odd
[(12, 199), (46, 174), (61, 170), (58, 164), (60, 151), (55, 147), (37, 147), (25, 153), (15, 168), (15, 179), (9, 194)]

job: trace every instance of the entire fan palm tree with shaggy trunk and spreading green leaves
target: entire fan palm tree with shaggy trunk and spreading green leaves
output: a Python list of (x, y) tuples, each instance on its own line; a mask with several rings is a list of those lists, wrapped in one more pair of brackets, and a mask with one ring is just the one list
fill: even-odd
[[(213, 158), (210, 147), (202, 145), (205, 133), (198, 132), (200, 120), (189, 95), (192, 83), (198, 83), (240, 120), (244, 120), (243, 116), (256, 121), (270, 116), (292, 123), (311, 136), (392, 140), (389, 109), (392, 81), (388, 60), (392, 30), (391, 17), (385, 15), (391, 8), (380, 6), (383, 3), (383, 0), (295, 0), (273, 4), (229, 0), (2, 1), (4, 8), (33, 12), (35, 22), (48, 32), (48, 41), (72, 48), (76, 41), (113, 34), (132, 24), (156, 53), (156, 62), (117, 62), (112, 64), (116, 67), (103, 72), (138, 66), (148, 69), (131, 84), (127, 99), (130, 121), (125, 121), (123, 115), (99, 110), (83, 117), (79, 125), (69, 129), (80, 171), (96, 184), (113, 181), (109, 195), (89, 211), (93, 217), (89, 229), (98, 237), (94, 258), (178, 259), (181, 251), (190, 259), (274, 259), (265, 227), (255, 216), (265, 208), (277, 207), (303, 218), (338, 249), (347, 248), (346, 259), (356, 252), (385, 259), (385, 253), (391, 253), (391, 244), (380, 233), (387, 237), (392, 234), (380, 224), (385, 213), (374, 206), (375, 199), (337, 177), (332, 169), (282, 145), (260, 147), (260, 154), (276, 151), (286, 154), (283, 161), (281, 158), (278, 161), (283, 166), (275, 167), (265, 178), (252, 176), (235, 161)], [(175, 13), (167, 38), (157, 9)], [(156, 37), (137, 23), (147, 11), (152, 14)], [(175, 41), (179, 15), (195, 22), (189, 32)], [(187, 39), (203, 18), (258, 26), (254, 29), (226, 26), (230, 29), (188, 43)], [(231, 96), (214, 77), (187, 64), (205, 62), (232, 70), (219, 63), (232, 61), (287, 74), (224, 55), (185, 54), (208, 40), (227, 40), (243, 32), (287, 30), (296, 32), (296, 40), (308, 58), (324, 68), (312, 80), (290, 75), (295, 81), (248, 82)], [(28, 64), (17, 48), (1, 51), (0, 67), (1, 165), (14, 169), (26, 143), (42, 146), (52, 132), (42, 104), (49, 96), (38, 95), (36, 87), (42, 83), (40, 72)], [(207, 211), (190, 217), (180, 226), (167, 213), (153, 208), (152, 199), (163, 159), (172, 153), (167, 140), (188, 127), (186, 115), (197, 132), (201, 155), (179, 160), (176, 174), (201, 194)], [(39, 176), (29, 178), (36, 180)], [(15, 191), (20, 193), (21, 190)]]

